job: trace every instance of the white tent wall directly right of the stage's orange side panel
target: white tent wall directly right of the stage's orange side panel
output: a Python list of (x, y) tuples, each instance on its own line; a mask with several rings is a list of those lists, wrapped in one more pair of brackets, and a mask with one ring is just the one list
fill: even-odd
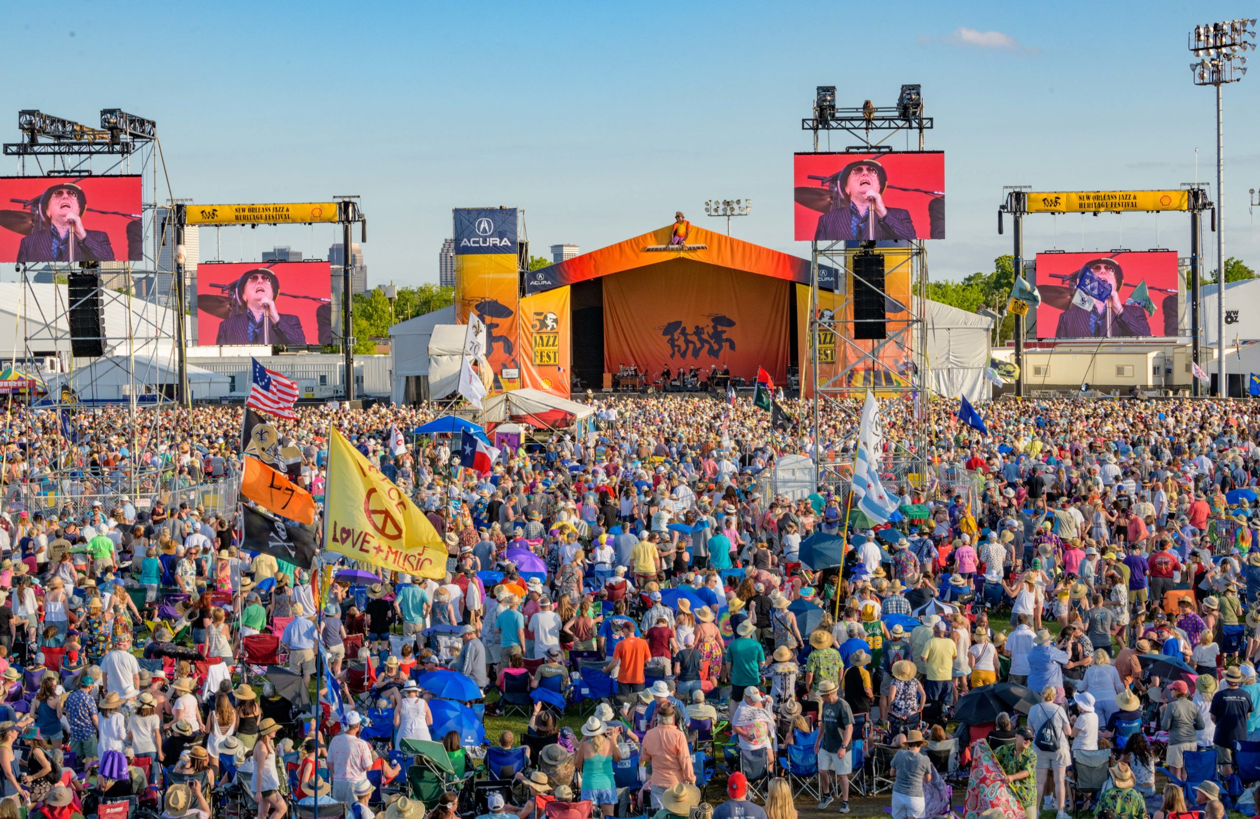
[(939, 301), (929, 301), (927, 386), (937, 396), (979, 403), (993, 397), (985, 379), (993, 320)]

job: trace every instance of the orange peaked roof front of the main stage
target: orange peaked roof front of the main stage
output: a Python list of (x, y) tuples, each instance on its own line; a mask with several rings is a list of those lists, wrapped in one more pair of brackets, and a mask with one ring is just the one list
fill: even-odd
[[(627, 270), (650, 265), (668, 265), (680, 258), (801, 285), (809, 284), (808, 258), (781, 253), (724, 233), (707, 231), (696, 224), (690, 226), (687, 243), (683, 246), (684, 249), (662, 249), (669, 246), (673, 232), (674, 226), (667, 224), (616, 244), (529, 271), (524, 275), (525, 292), (543, 292)], [(825, 265), (822, 267), (820, 286), (827, 287), (829, 280), (834, 287), (835, 268)]]

